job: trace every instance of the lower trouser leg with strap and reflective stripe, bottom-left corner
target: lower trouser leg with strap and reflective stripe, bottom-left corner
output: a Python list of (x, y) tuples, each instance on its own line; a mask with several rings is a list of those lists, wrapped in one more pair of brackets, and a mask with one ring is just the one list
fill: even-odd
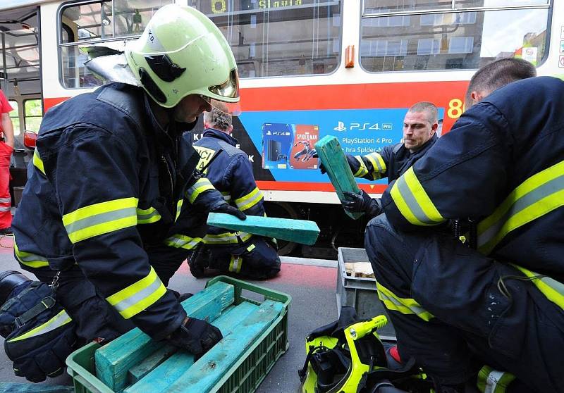
[(14, 373), (31, 382), (63, 373), (77, 342), (75, 324), (56, 301), (56, 280), (29, 281), (0, 308), (0, 334)]

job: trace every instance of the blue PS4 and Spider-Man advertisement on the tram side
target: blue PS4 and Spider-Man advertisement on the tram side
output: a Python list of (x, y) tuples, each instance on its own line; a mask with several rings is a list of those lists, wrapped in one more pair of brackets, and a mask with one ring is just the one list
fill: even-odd
[[(379, 152), (401, 142), (405, 113), (407, 108), (244, 112), (234, 134), (245, 140), (241, 149), (247, 154), (262, 156), (262, 165), (254, 166), (257, 180), (324, 183), (327, 177), (317, 170), (319, 159), (314, 157), (317, 140), (333, 135), (353, 156)], [(443, 115), (439, 108), (439, 124)]]

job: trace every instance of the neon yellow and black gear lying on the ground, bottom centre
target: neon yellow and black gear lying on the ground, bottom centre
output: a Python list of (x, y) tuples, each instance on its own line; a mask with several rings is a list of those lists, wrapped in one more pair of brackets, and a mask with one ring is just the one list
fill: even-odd
[(355, 308), (343, 306), (338, 320), (311, 332), (307, 356), (298, 371), (302, 393), (429, 392), (434, 384), (410, 358), (388, 368), (384, 344), (376, 330), (385, 316), (358, 320)]

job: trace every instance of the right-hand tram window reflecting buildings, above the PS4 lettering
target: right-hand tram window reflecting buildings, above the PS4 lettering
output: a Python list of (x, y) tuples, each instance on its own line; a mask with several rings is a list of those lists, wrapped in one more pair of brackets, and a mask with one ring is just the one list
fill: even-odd
[[(455, 0), (454, 4), (484, 8), (484, 4), (503, 5), (503, 1)], [(546, 1), (517, 0), (517, 3), (535, 6)], [(366, 11), (369, 1), (364, 4)], [(434, 8), (438, 11), (441, 4), (439, 1)], [(513, 0), (511, 4), (515, 6)], [(386, 21), (402, 15), (388, 17), (381, 10), (376, 15), (365, 14), (361, 20), (360, 63), (370, 72), (475, 69), (497, 58), (515, 56), (538, 66), (548, 50), (548, 11), (546, 5), (527, 9), (410, 13), (410, 25), (403, 26)], [(515, 20), (520, 23), (514, 23)], [(381, 50), (381, 42), (398, 40), (405, 42), (402, 50)]]

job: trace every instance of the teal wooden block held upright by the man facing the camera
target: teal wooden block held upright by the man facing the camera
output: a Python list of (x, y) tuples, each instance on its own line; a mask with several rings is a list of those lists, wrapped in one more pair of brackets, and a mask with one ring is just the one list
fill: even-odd
[[(321, 138), (321, 140), (315, 144), (315, 150), (341, 202), (345, 200), (345, 194), (343, 194), (345, 191), (360, 194), (360, 189), (353, 176), (353, 172), (350, 170), (350, 166), (348, 166), (347, 158), (345, 158), (343, 149), (341, 149), (341, 145), (336, 137), (327, 135)], [(345, 213), (355, 220), (363, 214), (349, 213), (348, 211), (345, 211)]]

